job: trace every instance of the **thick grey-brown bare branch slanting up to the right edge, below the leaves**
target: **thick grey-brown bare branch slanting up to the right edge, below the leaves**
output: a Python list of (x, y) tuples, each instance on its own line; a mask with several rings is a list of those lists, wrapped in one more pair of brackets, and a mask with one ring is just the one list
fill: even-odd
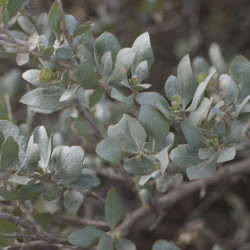
[[(182, 200), (184, 197), (198, 191), (202, 187), (209, 187), (220, 183), (223, 180), (229, 179), (235, 175), (249, 174), (250, 173), (250, 159), (246, 159), (240, 162), (229, 164), (222, 169), (220, 169), (216, 176), (210, 179), (202, 179), (191, 181), (182, 184), (178, 189), (175, 189), (168, 194), (159, 197), (156, 200), (157, 209), (166, 209), (173, 206), (178, 201)], [(130, 228), (148, 214), (154, 212), (151, 206), (145, 206), (138, 208), (137, 210), (126, 215), (122, 223), (115, 229), (115, 232), (122, 231), (128, 234)]]

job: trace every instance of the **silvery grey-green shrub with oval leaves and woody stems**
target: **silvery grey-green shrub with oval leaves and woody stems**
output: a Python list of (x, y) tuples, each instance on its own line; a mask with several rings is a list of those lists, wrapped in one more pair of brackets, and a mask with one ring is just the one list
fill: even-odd
[[(27, 105), (27, 119), (20, 126), (11, 113), (13, 89), (1, 84), (8, 119), (0, 121), (0, 203), (8, 201), (13, 209), (1, 208), (0, 247), (47, 242), (59, 248), (136, 249), (126, 239), (129, 229), (154, 212), (153, 207), (181, 199), (181, 192), (190, 187), (182, 184), (185, 175), (189, 180), (213, 178), (218, 164), (249, 146), (250, 62), (238, 56), (227, 63), (214, 44), (213, 66), (201, 57), (191, 63), (186, 55), (177, 76), (167, 79), (163, 95), (146, 91), (154, 61), (147, 32), (132, 47), (121, 48), (111, 33), (95, 39), (92, 23), (79, 26), (75, 17), (64, 13), (60, 0), (38, 18), (26, 11), (28, 2), (0, 2), (0, 57), (34, 67), (22, 74), (29, 91), (20, 100)], [(124, 114), (114, 111), (120, 103)], [(43, 125), (32, 129), (35, 113), (52, 117), (55, 111), (58, 127), (73, 131), (83, 148), (62, 145), (60, 134), (54, 130), (54, 136), (48, 135)], [(184, 144), (176, 141), (177, 133), (183, 134)], [(249, 168), (227, 168), (214, 182), (237, 171), (246, 173)], [(138, 194), (142, 207), (125, 214), (116, 188), (106, 198), (91, 190), (102, 185), (99, 174), (124, 181)], [(193, 182), (186, 192), (209, 185), (209, 180)], [(177, 198), (169, 203), (173, 188)], [(66, 234), (55, 223), (53, 236), (35, 216), (38, 204), (43, 204), (42, 211), (53, 205), (49, 219), (56, 214), (73, 223), (85, 198), (99, 202), (104, 220), (83, 220), (87, 226), (80, 230), (68, 223)], [(153, 249), (179, 248), (159, 240)]]

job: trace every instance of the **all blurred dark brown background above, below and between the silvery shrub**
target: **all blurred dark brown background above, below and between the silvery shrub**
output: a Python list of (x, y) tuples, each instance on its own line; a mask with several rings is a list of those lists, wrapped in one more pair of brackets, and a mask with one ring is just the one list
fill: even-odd
[[(48, 12), (52, 3), (53, 0), (34, 0), (30, 12)], [(185, 54), (208, 59), (213, 42), (220, 45), (228, 61), (236, 54), (250, 58), (249, 0), (63, 0), (63, 4), (65, 12), (76, 16), (79, 23), (92, 21), (96, 36), (104, 31), (114, 33), (122, 47), (131, 46), (138, 35), (149, 31), (155, 62), (148, 82), (160, 93), (167, 77), (176, 74), (176, 66)], [(3, 73), (15, 62), (4, 60), (1, 65)], [(21, 68), (26, 69), (27, 66)], [(14, 113), (18, 122), (23, 122), (18, 100)], [(239, 159), (240, 156), (236, 160)], [(136, 197), (126, 186), (104, 185), (119, 186), (126, 207), (140, 205), (134, 203)], [(151, 249), (160, 238), (174, 240), (185, 250), (222, 249), (216, 244), (224, 250), (250, 249), (249, 194), (249, 177), (228, 180), (206, 190), (205, 198), (201, 198), (202, 192), (195, 193), (164, 211), (156, 228), (148, 227), (155, 215), (145, 218), (134, 226), (129, 238), (138, 250)]]

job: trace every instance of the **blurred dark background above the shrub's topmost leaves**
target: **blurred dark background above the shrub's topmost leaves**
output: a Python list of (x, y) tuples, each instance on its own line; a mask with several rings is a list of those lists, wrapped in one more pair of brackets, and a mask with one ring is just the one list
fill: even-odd
[[(33, 1), (35, 12), (49, 10), (53, 0)], [(149, 82), (162, 89), (175, 73), (179, 60), (208, 58), (212, 42), (221, 46), (226, 59), (236, 54), (250, 56), (249, 0), (64, 0), (66, 12), (79, 23), (92, 21), (94, 33), (114, 33), (122, 46), (148, 31), (155, 62)], [(32, 8), (34, 10), (34, 8)]]

